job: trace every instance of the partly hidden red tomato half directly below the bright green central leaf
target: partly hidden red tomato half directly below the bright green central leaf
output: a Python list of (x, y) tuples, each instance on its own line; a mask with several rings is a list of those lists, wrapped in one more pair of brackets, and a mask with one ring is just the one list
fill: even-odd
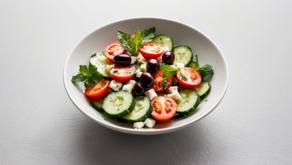
[[(172, 84), (172, 76), (162, 78), (163, 71), (162, 70), (157, 70), (156, 72), (151, 73), (154, 83), (152, 88), (154, 89), (155, 92), (164, 92), (166, 91), (169, 87), (171, 87)], [(162, 82), (163, 81), (168, 81), (168, 86), (166, 88), (162, 87)]]

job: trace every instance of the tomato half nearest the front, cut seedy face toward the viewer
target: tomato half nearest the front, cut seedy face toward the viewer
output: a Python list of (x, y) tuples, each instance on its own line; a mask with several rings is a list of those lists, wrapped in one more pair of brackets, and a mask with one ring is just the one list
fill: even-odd
[(159, 96), (151, 100), (153, 110), (151, 115), (154, 119), (158, 121), (168, 121), (171, 120), (177, 109), (176, 102), (167, 96)]

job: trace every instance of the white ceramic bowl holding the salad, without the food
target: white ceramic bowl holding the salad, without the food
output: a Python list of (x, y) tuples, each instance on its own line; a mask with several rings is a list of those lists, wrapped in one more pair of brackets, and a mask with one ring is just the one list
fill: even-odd
[[(193, 54), (198, 54), (201, 66), (204, 64), (213, 66), (214, 75), (206, 78), (210, 82), (212, 90), (201, 101), (197, 111), (188, 114), (185, 119), (173, 119), (156, 125), (154, 128), (134, 129), (132, 123), (121, 123), (90, 107), (89, 99), (84, 95), (84, 83), (82, 82), (75, 86), (71, 82), (71, 77), (77, 74), (79, 65), (88, 65), (92, 53), (104, 51), (108, 44), (117, 41), (116, 30), (133, 34), (137, 27), (143, 30), (153, 26), (155, 27), (156, 34), (168, 34), (171, 36), (173, 38), (173, 46), (190, 46)], [(99, 27), (81, 39), (65, 62), (63, 80), (67, 94), (73, 104), (96, 123), (124, 133), (153, 135), (180, 130), (199, 121), (213, 111), (226, 92), (228, 70), (223, 53), (218, 46), (194, 27), (162, 18), (131, 18)], [(206, 102), (205, 100), (208, 101)]]

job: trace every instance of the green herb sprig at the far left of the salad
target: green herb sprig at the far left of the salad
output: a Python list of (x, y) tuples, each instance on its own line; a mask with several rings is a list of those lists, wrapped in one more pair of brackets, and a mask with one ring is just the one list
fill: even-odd
[(100, 81), (103, 75), (97, 71), (97, 68), (94, 65), (79, 65), (79, 73), (76, 76), (73, 76), (71, 81), (82, 82), (85, 81), (87, 85), (94, 86), (95, 81)]

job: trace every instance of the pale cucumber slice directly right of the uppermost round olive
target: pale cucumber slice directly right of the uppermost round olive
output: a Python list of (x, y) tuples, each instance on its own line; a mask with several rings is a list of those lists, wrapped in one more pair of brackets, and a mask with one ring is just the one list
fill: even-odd
[(173, 53), (174, 53), (174, 62), (181, 62), (185, 65), (190, 64), (190, 62), (193, 60), (193, 53), (192, 49), (188, 46), (177, 46), (173, 48)]

